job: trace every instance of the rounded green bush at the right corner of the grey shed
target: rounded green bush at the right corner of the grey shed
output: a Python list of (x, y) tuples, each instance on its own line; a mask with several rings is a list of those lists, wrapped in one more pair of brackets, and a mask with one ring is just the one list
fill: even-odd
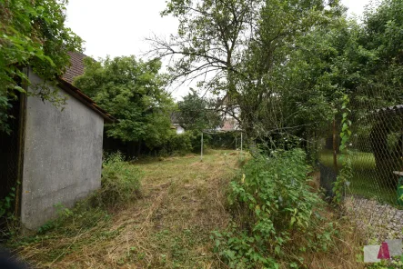
[(107, 154), (103, 163), (101, 188), (93, 201), (99, 206), (125, 204), (140, 195), (141, 172), (124, 161), (121, 153)]

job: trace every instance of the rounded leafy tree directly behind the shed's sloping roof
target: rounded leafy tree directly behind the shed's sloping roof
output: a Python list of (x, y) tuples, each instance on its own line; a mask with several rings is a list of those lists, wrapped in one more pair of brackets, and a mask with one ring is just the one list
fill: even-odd
[(145, 142), (149, 148), (163, 144), (170, 131), (174, 103), (164, 89), (161, 63), (123, 56), (101, 62), (86, 58), (86, 72), (75, 85), (114, 115), (118, 122), (106, 126), (108, 136), (126, 142)]

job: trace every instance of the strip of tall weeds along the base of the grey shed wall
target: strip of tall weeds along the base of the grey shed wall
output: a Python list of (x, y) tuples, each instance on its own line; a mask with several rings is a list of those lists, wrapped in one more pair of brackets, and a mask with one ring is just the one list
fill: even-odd
[[(110, 223), (111, 207), (126, 204), (140, 195), (142, 173), (134, 165), (124, 161), (120, 153), (107, 154), (104, 158), (101, 188), (88, 198), (78, 201), (73, 208), (55, 204), (57, 217), (38, 228), (37, 234), (16, 236), (9, 244), (13, 247), (37, 244), (49, 236), (76, 236), (96, 226)], [(95, 230), (101, 233), (102, 229)]]

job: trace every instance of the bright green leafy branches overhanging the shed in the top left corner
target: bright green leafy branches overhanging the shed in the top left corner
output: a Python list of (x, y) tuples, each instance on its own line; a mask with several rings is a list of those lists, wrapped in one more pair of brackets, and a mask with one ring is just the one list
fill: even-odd
[[(0, 0), (0, 132), (11, 132), (7, 125), (11, 101), (24, 92), (21, 85), (29, 84), (21, 67), (29, 65), (44, 81), (52, 82), (69, 65), (67, 52), (82, 49), (81, 38), (65, 27), (66, 3)], [(55, 105), (65, 101), (46, 86), (31, 94)]]

